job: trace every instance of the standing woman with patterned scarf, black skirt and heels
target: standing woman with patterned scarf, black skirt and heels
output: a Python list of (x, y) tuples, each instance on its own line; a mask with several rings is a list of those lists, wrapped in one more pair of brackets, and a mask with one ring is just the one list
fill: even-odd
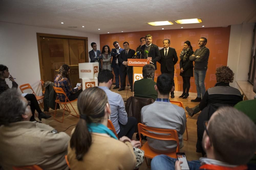
[(181, 96), (183, 99), (188, 98), (189, 88), (190, 88), (190, 77), (193, 77), (193, 61), (189, 61), (189, 56), (194, 53), (193, 48), (189, 41), (184, 43), (184, 48), (181, 51), (179, 58), (179, 66), (180, 66), (180, 76), (183, 79), (183, 93)]

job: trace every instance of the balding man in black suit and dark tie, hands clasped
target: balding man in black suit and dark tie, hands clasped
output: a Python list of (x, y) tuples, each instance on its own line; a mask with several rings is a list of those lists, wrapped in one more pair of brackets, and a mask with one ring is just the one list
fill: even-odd
[[(174, 48), (169, 47), (169, 39), (164, 39), (163, 44), (164, 48), (159, 51), (161, 59), (158, 61), (161, 64), (161, 73), (170, 74), (174, 79), (174, 65), (178, 61), (177, 53)], [(174, 91), (171, 92), (171, 98), (174, 98)]]

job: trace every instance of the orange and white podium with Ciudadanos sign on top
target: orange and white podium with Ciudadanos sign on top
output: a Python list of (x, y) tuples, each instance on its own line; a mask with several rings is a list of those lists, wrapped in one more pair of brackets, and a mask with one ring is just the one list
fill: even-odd
[(128, 66), (133, 66), (133, 83), (143, 79), (142, 68), (146, 64), (149, 64), (149, 61), (149, 59), (128, 59)]

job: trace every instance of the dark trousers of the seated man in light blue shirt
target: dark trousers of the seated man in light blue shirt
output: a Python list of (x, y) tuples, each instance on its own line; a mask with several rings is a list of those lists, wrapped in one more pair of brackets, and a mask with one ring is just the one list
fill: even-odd
[(121, 138), (123, 136), (127, 136), (128, 138), (132, 139), (132, 136), (135, 132), (136, 126), (137, 126), (137, 120), (135, 117), (128, 117), (128, 121), (126, 125), (121, 124), (120, 122), (120, 132), (118, 133), (118, 138)]

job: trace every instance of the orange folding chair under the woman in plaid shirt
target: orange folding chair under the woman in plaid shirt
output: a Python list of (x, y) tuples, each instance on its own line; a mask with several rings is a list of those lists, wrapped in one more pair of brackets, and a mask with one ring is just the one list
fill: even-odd
[[(64, 91), (61, 87), (53, 87), (53, 89), (54, 89), (55, 93), (64, 94), (65, 97), (66, 97), (65, 102), (61, 102), (61, 101), (58, 99), (58, 95), (57, 95), (57, 99), (55, 100), (56, 104), (55, 104), (54, 120), (56, 120), (56, 121), (58, 121), (58, 122), (60, 122), (60, 123), (63, 123), (64, 114), (65, 114), (66, 108), (68, 109), (68, 110), (66, 110), (66, 111), (68, 111), (70, 115), (79, 118), (79, 116), (78, 116), (78, 114), (77, 114), (77, 111), (74, 109), (74, 107), (73, 107), (72, 104), (71, 104), (71, 102), (77, 101), (77, 99), (70, 101), (70, 100), (68, 99), (68, 97), (67, 97), (65, 91)], [(56, 117), (56, 112), (57, 112), (57, 103), (59, 103), (61, 107), (62, 107), (61, 104), (64, 105), (64, 108), (62, 107), (62, 109), (63, 109), (62, 121), (59, 121), (59, 120), (57, 120), (57, 119), (55, 118), (55, 117)], [(75, 112), (77, 115), (71, 114), (71, 111), (70, 111), (70, 109), (69, 109), (67, 103), (69, 103), (69, 104), (71, 105), (71, 107), (73, 108), (74, 112)]]

